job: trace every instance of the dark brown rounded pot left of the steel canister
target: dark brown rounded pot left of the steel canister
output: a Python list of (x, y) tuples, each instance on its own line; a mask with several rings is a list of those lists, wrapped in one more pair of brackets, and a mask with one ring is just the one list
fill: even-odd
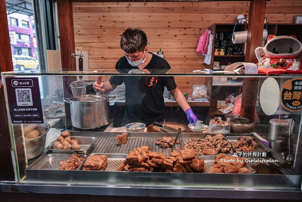
[(229, 120), (231, 133), (248, 133), (254, 132), (254, 123), (245, 118), (234, 118)]

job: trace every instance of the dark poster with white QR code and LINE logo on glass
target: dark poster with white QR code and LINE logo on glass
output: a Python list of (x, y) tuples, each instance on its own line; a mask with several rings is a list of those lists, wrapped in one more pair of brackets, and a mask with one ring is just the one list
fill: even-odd
[(44, 123), (39, 79), (5, 78), (12, 123)]

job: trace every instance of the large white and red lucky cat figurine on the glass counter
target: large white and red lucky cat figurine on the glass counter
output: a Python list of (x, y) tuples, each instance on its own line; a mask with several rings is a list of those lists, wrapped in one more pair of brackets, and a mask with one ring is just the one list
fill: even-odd
[(302, 45), (295, 35), (269, 35), (264, 47), (255, 49), (259, 69), (300, 70)]

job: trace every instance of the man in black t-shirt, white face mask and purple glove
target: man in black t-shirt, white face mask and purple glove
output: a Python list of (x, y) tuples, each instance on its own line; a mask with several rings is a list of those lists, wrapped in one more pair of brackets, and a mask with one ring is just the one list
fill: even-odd
[[(169, 63), (152, 53), (148, 52), (147, 36), (140, 29), (128, 28), (122, 34), (120, 47), (125, 56), (121, 57), (115, 66), (118, 70), (129, 70), (131, 72), (152, 73), (156, 70), (171, 69)], [(154, 121), (164, 121), (164, 88), (169, 90), (187, 115), (189, 123), (198, 120), (192, 112), (185, 96), (177, 88), (174, 77), (156, 77), (156, 76), (112, 76), (109, 81), (93, 85), (95, 90), (110, 92), (118, 85), (125, 83), (126, 101), (125, 114), (122, 126), (132, 122), (142, 122), (147, 126)]]

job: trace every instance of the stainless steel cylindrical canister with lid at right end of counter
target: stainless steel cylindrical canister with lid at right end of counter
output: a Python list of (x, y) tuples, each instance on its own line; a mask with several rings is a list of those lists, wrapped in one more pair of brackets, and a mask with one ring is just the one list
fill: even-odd
[(289, 123), (283, 119), (271, 119), (268, 125), (268, 139), (277, 140), (288, 136)]

